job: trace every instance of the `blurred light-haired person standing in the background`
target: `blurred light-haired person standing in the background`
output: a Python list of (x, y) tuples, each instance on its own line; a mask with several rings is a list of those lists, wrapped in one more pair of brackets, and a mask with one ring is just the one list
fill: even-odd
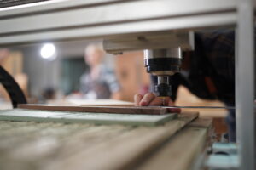
[(119, 82), (110, 68), (102, 63), (105, 53), (100, 45), (85, 48), (84, 61), (90, 71), (80, 77), (80, 91), (84, 99), (120, 99)]

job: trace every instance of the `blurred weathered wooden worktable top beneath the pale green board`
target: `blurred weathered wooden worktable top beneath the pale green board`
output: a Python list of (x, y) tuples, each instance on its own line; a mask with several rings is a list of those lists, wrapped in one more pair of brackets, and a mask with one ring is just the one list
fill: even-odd
[(129, 169), (197, 116), (159, 127), (0, 121), (0, 169)]

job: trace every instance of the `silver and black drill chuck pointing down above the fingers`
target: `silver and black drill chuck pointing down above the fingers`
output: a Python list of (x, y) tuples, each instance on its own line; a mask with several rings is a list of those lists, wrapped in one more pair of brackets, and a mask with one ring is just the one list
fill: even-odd
[(154, 87), (157, 96), (172, 95), (169, 77), (180, 71), (181, 63), (181, 48), (144, 50), (144, 64), (147, 72), (157, 76), (157, 84)]

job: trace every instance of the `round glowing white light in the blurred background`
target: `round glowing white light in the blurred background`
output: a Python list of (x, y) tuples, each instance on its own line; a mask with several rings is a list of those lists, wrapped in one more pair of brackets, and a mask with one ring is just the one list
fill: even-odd
[(56, 58), (55, 45), (53, 43), (45, 43), (41, 48), (40, 54), (44, 59), (54, 60)]

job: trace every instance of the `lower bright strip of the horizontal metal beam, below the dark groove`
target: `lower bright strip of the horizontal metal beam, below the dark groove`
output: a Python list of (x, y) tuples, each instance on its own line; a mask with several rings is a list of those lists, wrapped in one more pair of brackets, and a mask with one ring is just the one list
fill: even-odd
[(37, 31), (0, 36), (0, 46), (11, 44), (73, 40), (83, 38), (124, 37), (126, 34), (144, 35), (151, 31), (193, 30), (211, 26), (233, 26), (235, 13), (205, 14), (180, 18), (146, 20), (105, 26), (89, 26), (55, 31)]

